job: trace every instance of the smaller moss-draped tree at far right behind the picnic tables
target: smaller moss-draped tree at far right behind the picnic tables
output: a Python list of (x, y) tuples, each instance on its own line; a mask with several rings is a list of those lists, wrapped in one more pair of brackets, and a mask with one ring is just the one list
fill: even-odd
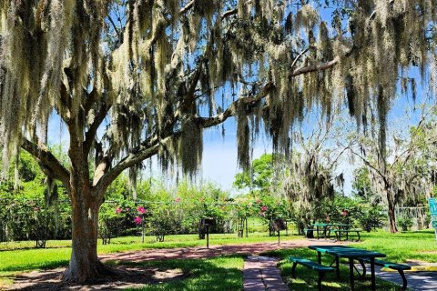
[[(418, 201), (432, 192), (435, 173), (435, 134), (430, 119), (435, 105), (424, 107), (417, 125), (390, 126), (390, 144), (375, 143), (374, 132), (350, 135), (351, 154), (358, 156), (369, 173), (371, 191), (381, 196), (388, 207), (391, 232), (397, 232), (395, 208), (407, 201)], [(404, 123), (398, 123), (404, 124)], [(434, 124), (435, 125), (435, 124)], [(407, 130), (407, 131), (406, 131)], [(426, 134), (427, 133), (427, 134)]]

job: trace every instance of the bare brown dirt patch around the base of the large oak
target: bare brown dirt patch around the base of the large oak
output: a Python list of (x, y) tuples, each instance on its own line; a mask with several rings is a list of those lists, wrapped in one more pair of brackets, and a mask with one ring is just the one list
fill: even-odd
[(188, 274), (181, 269), (141, 268), (134, 266), (117, 266), (117, 276), (100, 277), (88, 285), (73, 285), (61, 282), (64, 268), (44, 272), (31, 272), (15, 277), (15, 283), (7, 290), (117, 290), (141, 287), (146, 284), (158, 284), (171, 280), (180, 280)]

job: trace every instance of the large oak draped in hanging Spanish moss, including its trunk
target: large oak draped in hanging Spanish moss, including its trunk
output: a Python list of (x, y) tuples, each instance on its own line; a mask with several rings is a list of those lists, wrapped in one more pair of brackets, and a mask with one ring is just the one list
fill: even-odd
[[(231, 116), (243, 167), (251, 133), (264, 128), (287, 152), (311, 105), (330, 115), (347, 100), (361, 124), (377, 99), (384, 128), (410, 66), (435, 88), (436, 11), (433, 0), (1, 0), (3, 167), (23, 148), (66, 186), (64, 279), (86, 281), (106, 271), (97, 216), (120, 173), (158, 156), (194, 175), (203, 130)], [(53, 112), (69, 166), (46, 145)]]

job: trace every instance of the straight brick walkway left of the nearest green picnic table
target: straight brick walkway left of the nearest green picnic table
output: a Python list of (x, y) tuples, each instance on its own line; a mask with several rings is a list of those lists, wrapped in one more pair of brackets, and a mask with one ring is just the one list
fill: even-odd
[(289, 291), (276, 267), (278, 260), (268, 256), (248, 256), (244, 260), (245, 291)]

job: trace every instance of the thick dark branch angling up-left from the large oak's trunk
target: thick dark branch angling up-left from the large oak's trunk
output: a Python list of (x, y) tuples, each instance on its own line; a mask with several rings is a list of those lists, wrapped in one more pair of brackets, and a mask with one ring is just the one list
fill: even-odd
[(68, 184), (70, 173), (66, 167), (62, 166), (56, 157), (50, 153), (46, 146), (38, 146), (23, 137), (21, 147), (36, 158), (47, 176), (61, 181), (64, 185)]

